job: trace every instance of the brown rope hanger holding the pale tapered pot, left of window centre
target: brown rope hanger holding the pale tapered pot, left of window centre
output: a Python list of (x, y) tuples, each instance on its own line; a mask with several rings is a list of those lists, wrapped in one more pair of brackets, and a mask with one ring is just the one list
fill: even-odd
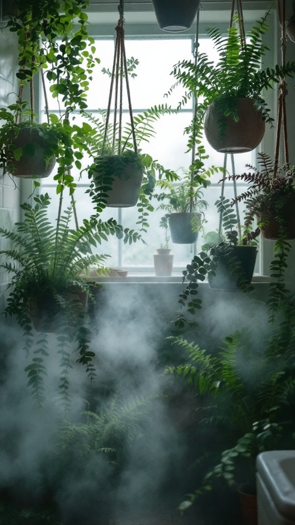
[[(130, 124), (131, 124), (132, 139), (133, 139), (133, 145), (134, 145), (134, 153), (137, 154), (138, 149), (137, 149), (136, 139), (135, 139), (134, 121), (133, 121), (133, 115), (132, 115), (130, 88), (129, 88), (129, 80), (128, 80), (127, 59), (126, 59), (126, 53), (125, 53), (125, 31), (123, 28), (123, 25), (125, 22), (124, 20), (124, 0), (120, 0), (120, 5), (118, 6), (118, 10), (119, 10), (120, 18), (115, 28), (117, 35), (116, 35), (116, 40), (115, 40), (115, 50), (114, 50), (113, 68), (112, 68), (112, 75), (111, 75), (110, 95), (109, 95), (109, 102), (108, 102), (107, 116), (106, 116), (106, 125), (104, 128), (104, 137), (103, 137), (103, 143), (102, 143), (102, 154), (106, 152), (106, 143), (107, 143), (107, 138), (108, 138), (108, 129), (109, 129), (109, 122), (110, 122), (110, 112), (111, 112), (113, 91), (114, 91), (114, 119), (113, 119), (112, 154), (115, 153), (116, 142), (117, 142), (117, 154), (120, 155), (122, 151), (123, 77), (125, 78), (125, 83), (126, 83)], [(118, 97), (119, 97), (119, 125), (117, 124)], [(118, 125), (118, 129), (117, 129), (117, 125)], [(117, 133), (118, 133), (118, 139), (116, 139)]]

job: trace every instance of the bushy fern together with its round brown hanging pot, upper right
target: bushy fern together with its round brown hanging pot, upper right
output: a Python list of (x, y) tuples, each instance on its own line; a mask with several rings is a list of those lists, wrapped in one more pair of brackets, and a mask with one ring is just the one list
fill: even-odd
[(217, 28), (207, 28), (219, 53), (217, 64), (205, 53), (198, 53), (196, 65), (178, 62), (172, 72), (177, 82), (170, 92), (178, 84), (186, 89), (180, 107), (188, 98), (204, 97), (198, 115), (204, 119), (208, 142), (217, 151), (239, 153), (256, 148), (264, 136), (265, 122), (273, 121), (262, 90), (295, 74), (295, 62), (261, 69), (269, 49), (262, 41), (268, 29), (267, 16), (246, 36), (243, 27), (230, 27), (227, 37)]

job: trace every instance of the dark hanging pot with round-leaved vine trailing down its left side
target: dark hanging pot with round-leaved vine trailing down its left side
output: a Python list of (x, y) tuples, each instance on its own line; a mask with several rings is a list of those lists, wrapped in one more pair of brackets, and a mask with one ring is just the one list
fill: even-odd
[[(221, 216), (219, 231), (205, 235), (206, 243), (201, 253), (195, 255), (183, 271), (183, 282), (187, 280), (188, 284), (179, 296), (181, 308), (174, 321), (177, 328), (196, 324), (187, 319), (181, 310), (186, 306), (187, 313), (193, 316), (202, 308), (202, 300), (196, 296), (198, 282), (203, 282), (206, 277), (210, 288), (241, 289), (244, 292), (252, 290), (251, 279), (257, 255), (256, 238), (260, 229), (252, 231), (251, 226), (248, 226), (242, 234), (237, 218), (239, 215), (234, 213), (229, 199), (222, 196), (215, 205)], [(235, 229), (237, 226), (238, 231)]]

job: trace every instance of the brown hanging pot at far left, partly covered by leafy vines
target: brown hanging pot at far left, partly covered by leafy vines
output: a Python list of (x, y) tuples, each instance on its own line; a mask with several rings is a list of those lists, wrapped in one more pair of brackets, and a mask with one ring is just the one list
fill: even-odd
[[(48, 142), (50, 143), (50, 129), (37, 124), (30, 126), (29, 123), (20, 128), (17, 137), (13, 137), (9, 146), (5, 147), (7, 171), (15, 177), (48, 177), (56, 163), (55, 156), (48, 158)], [(15, 151), (21, 151), (17, 159), (14, 156)]]

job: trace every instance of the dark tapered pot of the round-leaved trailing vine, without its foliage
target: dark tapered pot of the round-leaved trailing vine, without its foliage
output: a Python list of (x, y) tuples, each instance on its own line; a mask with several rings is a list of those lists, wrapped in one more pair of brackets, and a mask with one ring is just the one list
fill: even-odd
[[(209, 287), (212, 289), (233, 289), (241, 282), (250, 285), (255, 268), (257, 248), (256, 246), (232, 246), (227, 255), (218, 250), (216, 254), (215, 276), (208, 275)], [(238, 272), (232, 271), (230, 266), (239, 264)]]

